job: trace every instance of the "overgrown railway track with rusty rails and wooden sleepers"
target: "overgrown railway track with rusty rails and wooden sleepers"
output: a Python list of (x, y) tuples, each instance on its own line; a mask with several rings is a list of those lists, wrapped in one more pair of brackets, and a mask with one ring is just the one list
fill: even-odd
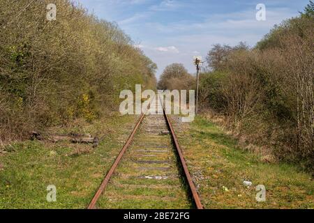
[(170, 118), (162, 112), (140, 116), (88, 209), (203, 208)]

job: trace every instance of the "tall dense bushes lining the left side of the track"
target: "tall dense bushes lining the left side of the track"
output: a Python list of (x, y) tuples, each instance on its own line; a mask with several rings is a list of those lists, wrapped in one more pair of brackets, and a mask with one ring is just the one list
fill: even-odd
[(0, 142), (30, 130), (93, 121), (121, 89), (156, 85), (154, 64), (116, 24), (70, 0), (0, 0)]

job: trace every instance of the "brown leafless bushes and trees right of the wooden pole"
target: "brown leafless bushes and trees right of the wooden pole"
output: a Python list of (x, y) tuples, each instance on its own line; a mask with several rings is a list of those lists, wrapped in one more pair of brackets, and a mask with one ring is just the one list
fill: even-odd
[(314, 167), (314, 4), (250, 49), (214, 45), (200, 101), (246, 141)]

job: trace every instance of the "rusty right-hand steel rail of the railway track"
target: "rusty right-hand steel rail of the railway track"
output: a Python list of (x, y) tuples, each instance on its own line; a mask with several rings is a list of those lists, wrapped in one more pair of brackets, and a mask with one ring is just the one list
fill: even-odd
[[(158, 98), (159, 98), (159, 100), (161, 102), (161, 105), (163, 106), (163, 101), (161, 101), (159, 95), (158, 95)], [(165, 119), (167, 121), (167, 125), (170, 128), (170, 131), (171, 131), (171, 134), (172, 134), (172, 139), (174, 141), (174, 146), (177, 149), (177, 153), (178, 153), (180, 161), (181, 161), (181, 166), (184, 169), (184, 174), (186, 176), (186, 180), (188, 180), (189, 189), (190, 189), (190, 192), (193, 195), (193, 201), (195, 202), (195, 206), (196, 206), (197, 209), (204, 209), (204, 206), (202, 205), (202, 203), (200, 201), (200, 195), (198, 194), (198, 192), (196, 190), (196, 187), (195, 187), (195, 185), (193, 183), (193, 179), (190, 176), (190, 172), (188, 171), (188, 166), (186, 164), (186, 160), (184, 159), (184, 155), (183, 155), (183, 153), (181, 151), (181, 147), (180, 147), (179, 141), (177, 139), (177, 135), (174, 132), (174, 128), (172, 126), (170, 118), (167, 116), (167, 114), (165, 112), (165, 107), (164, 106), (163, 106), (163, 114), (164, 114)]]

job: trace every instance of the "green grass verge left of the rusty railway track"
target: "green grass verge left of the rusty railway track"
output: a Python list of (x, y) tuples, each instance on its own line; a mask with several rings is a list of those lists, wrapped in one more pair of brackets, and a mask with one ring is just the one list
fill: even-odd
[[(8, 146), (0, 156), (0, 208), (86, 208), (134, 123), (135, 116), (123, 116), (82, 126), (80, 132), (105, 134), (95, 149), (42, 141)], [(57, 187), (57, 202), (47, 202), (47, 185)]]

